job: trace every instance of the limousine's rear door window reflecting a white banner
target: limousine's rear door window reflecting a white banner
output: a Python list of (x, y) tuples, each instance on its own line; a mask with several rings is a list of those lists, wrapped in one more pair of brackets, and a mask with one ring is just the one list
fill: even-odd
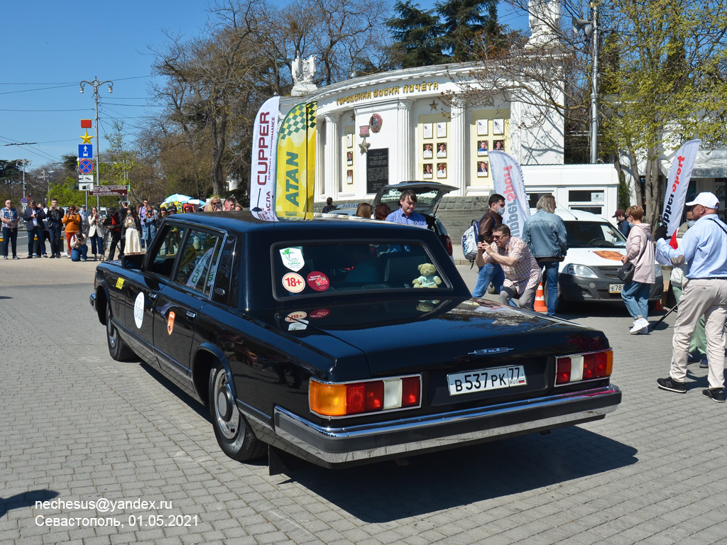
[(217, 257), (220, 254), (220, 243), (220, 235), (190, 230), (182, 246), (180, 264), (174, 280), (204, 295), (209, 295)]

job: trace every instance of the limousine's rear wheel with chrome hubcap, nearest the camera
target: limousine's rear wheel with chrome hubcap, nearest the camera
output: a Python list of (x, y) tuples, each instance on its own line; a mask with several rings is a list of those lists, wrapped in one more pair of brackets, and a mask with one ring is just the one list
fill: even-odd
[(231, 459), (251, 461), (267, 452), (268, 445), (255, 437), (238, 410), (225, 368), (219, 363), (209, 371), (209, 416), (217, 444)]

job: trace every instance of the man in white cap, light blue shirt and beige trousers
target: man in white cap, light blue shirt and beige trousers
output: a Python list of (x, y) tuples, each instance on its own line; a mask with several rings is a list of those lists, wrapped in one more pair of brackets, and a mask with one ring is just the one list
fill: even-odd
[(696, 222), (682, 238), (679, 249), (668, 243), (666, 226), (656, 230), (656, 249), (673, 265), (688, 263), (679, 301), (677, 321), (672, 339), (672, 363), (669, 376), (657, 379), (659, 388), (686, 393), (686, 366), (689, 356), (689, 340), (694, 334), (699, 317), (706, 318), (707, 362), (709, 363), (709, 389), (704, 397), (724, 403), (725, 368), (725, 319), (727, 318), (727, 225), (717, 217), (720, 201), (713, 193), (699, 193), (694, 201), (692, 214)]

